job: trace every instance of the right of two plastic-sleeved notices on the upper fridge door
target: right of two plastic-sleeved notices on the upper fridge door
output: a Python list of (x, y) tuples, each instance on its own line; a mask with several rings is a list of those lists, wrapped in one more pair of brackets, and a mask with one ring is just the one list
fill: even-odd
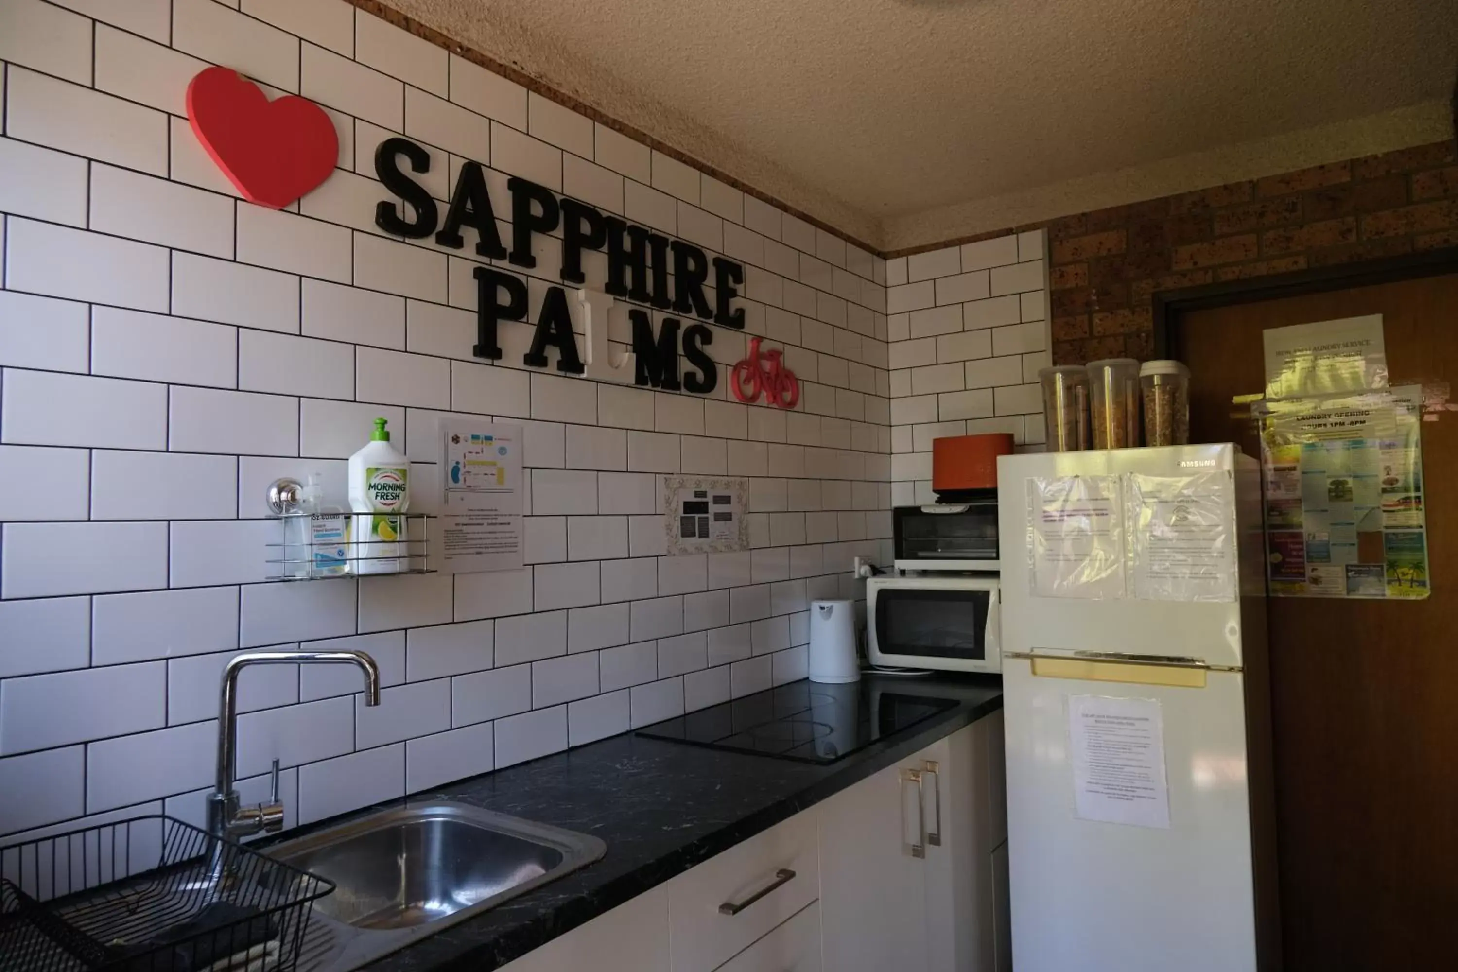
[(1235, 477), (1128, 474), (1130, 595), (1143, 600), (1235, 600)]

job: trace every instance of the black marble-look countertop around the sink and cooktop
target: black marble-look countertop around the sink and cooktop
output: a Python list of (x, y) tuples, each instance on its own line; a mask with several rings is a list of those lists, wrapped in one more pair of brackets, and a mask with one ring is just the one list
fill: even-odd
[[(456, 800), (596, 835), (607, 842), (608, 853), (595, 864), (364, 968), (434, 972), (503, 966), (1002, 708), (997, 676), (869, 675), (862, 685), (952, 698), (958, 705), (830, 765), (628, 733), (382, 804)], [(289, 838), (306, 829), (316, 828), (293, 831)]]

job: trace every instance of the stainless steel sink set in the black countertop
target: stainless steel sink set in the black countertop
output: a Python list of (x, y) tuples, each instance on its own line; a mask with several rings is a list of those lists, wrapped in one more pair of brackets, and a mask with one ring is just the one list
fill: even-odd
[(267, 853), (335, 883), (313, 905), (315, 922), (332, 927), (338, 946), (305, 963), (322, 969), (353, 968), (433, 934), (590, 864), (607, 845), (440, 801), (375, 813)]

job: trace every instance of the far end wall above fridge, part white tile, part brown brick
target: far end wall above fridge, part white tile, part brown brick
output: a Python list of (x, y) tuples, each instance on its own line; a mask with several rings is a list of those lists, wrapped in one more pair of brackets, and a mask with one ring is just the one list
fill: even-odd
[[(1417, 146), (888, 258), (892, 503), (930, 501), (939, 436), (1012, 431), (1019, 450), (1041, 449), (1045, 348), (1054, 364), (1153, 357), (1158, 291), (1458, 246), (1455, 162), (1451, 141)], [(1032, 280), (1044, 239), (1047, 294)], [(959, 293), (983, 286), (989, 259), (1032, 274), (1021, 312), (996, 283)], [(968, 334), (990, 326), (990, 344)]]

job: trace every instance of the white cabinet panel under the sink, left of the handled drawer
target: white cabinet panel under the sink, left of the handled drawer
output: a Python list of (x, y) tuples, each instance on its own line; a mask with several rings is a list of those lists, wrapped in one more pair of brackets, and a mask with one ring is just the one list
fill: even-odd
[(502, 972), (668, 972), (665, 885), (598, 915), (504, 966)]

